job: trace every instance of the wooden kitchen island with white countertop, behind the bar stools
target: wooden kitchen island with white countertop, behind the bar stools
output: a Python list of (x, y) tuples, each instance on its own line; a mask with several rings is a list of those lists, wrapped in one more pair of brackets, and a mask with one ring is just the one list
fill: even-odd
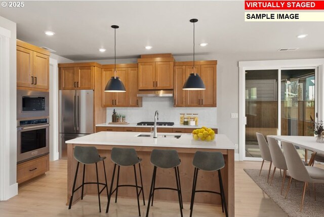
[[(73, 179), (76, 169), (77, 161), (73, 158), (73, 150), (75, 146), (94, 146), (98, 149), (100, 156), (106, 156), (106, 174), (108, 185), (110, 186), (113, 163), (110, 160), (110, 153), (113, 147), (134, 148), (140, 158), (142, 177), (144, 186), (145, 199), (148, 199), (151, 178), (153, 173), (153, 165), (150, 163), (150, 154), (153, 149), (173, 149), (177, 150), (181, 159), (179, 166), (181, 190), (184, 202), (190, 202), (192, 180), (194, 167), (192, 160), (196, 151), (210, 151), (221, 152), (225, 159), (225, 167), (221, 169), (224, 191), (228, 206), (229, 216), (234, 216), (234, 144), (228, 139), (226, 135), (216, 134), (215, 140), (210, 142), (195, 141), (191, 134), (182, 133), (158, 133), (157, 138), (153, 137), (139, 137), (138, 135), (150, 135), (150, 133), (138, 132), (98, 132), (87, 136), (75, 138), (66, 141), (67, 143), (67, 202), (69, 202)], [(163, 137), (163, 136), (166, 137)], [(181, 135), (180, 138), (175, 138), (174, 135)], [(137, 168), (138, 169), (138, 168)], [(88, 165), (86, 169), (86, 182), (96, 182), (95, 165)], [(102, 163), (98, 164), (99, 181), (104, 181), (104, 174)], [(157, 169), (156, 173), (156, 187), (170, 187), (176, 186), (174, 171), (170, 169)], [(137, 173), (139, 174), (139, 172)], [(76, 186), (82, 183), (82, 169), (78, 171), (78, 178)], [(133, 167), (120, 168), (119, 184), (134, 185), (134, 170)], [(115, 186), (115, 184), (114, 184)], [(219, 191), (218, 174), (217, 172), (204, 172), (198, 174), (197, 190)], [(104, 191), (105, 192), (105, 191)], [(104, 192), (102, 194), (104, 194)], [(85, 194), (97, 194), (96, 185), (85, 186)], [(118, 189), (118, 196), (120, 197), (134, 197), (136, 198), (135, 188), (120, 188)], [(79, 200), (81, 191), (77, 191), (73, 197), (73, 203)], [(177, 201), (178, 195), (173, 191), (156, 191), (154, 193), (154, 200), (171, 200)], [(209, 193), (198, 193), (195, 196), (196, 203), (221, 204), (220, 196)]]

